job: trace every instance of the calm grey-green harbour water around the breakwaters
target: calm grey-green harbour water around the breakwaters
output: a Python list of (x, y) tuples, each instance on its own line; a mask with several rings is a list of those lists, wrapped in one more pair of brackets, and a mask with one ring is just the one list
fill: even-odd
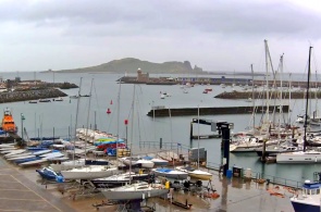
[[(127, 135), (134, 145), (139, 141), (159, 141), (160, 138), (164, 142), (181, 142), (189, 146), (189, 126), (193, 116), (173, 116), (173, 117), (149, 117), (146, 114), (151, 110), (152, 105), (164, 105), (171, 108), (202, 108), (202, 107), (231, 107), (231, 105), (251, 105), (251, 102), (245, 100), (223, 100), (213, 98), (215, 95), (226, 90), (232, 90), (231, 87), (221, 88), (220, 86), (211, 86), (213, 91), (205, 95), (202, 90), (206, 86), (195, 86), (188, 89), (188, 93), (183, 93), (180, 85), (174, 86), (135, 86), (134, 85), (116, 84), (116, 79), (122, 75), (116, 74), (52, 74), (52, 73), (2, 73), (3, 78), (14, 78), (20, 76), (25, 79), (41, 79), (45, 82), (70, 82), (79, 85), (82, 77), (81, 93), (87, 95), (90, 92), (91, 79), (94, 78), (91, 98), (81, 98), (79, 113), (77, 127), (89, 126), (112, 134), (118, 134), (121, 137), (126, 137), (126, 127), (124, 120), (129, 120), (132, 111), (134, 111), (134, 122), (129, 120)], [(215, 76), (220, 77), (220, 76)], [(294, 80), (301, 79), (300, 75), (293, 76)], [(236, 89), (240, 89), (237, 87)], [(69, 96), (77, 95), (78, 89), (63, 90)], [(171, 97), (160, 99), (160, 91), (169, 92)], [(118, 97), (120, 95), (120, 104)], [(89, 108), (90, 99), (90, 111)], [(257, 102), (263, 104), (263, 102)], [(133, 110), (134, 105), (134, 110)], [(304, 100), (292, 100), (293, 113), (291, 120), (295, 121), (296, 115), (303, 112)], [(314, 102), (311, 102), (314, 105)], [(22, 127), (21, 113), (24, 114), (25, 121), (23, 126), (27, 130), (28, 137), (40, 136), (61, 136), (69, 137), (74, 135), (75, 117), (77, 100), (69, 97), (62, 102), (48, 102), (30, 104), (28, 102), (14, 102), (0, 104), (0, 109), (10, 108), (13, 111), (14, 120)], [(111, 109), (112, 113), (107, 114), (107, 109)], [(118, 108), (120, 108), (120, 117), (118, 119)], [(88, 113), (89, 111), (89, 113)], [(89, 115), (88, 115), (89, 114)], [(96, 114), (96, 116), (95, 116)], [(287, 116), (287, 114), (286, 114)], [(226, 121), (234, 123), (232, 132), (246, 130), (250, 125), (251, 116), (246, 114), (231, 115), (207, 115), (202, 116), (207, 120)], [(260, 115), (256, 116), (256, 123), (259, 123)], [(119, 123), (119, 124), (118, 124)], [(132, 126), (133, 130), (132, 130)], [(194, 134), (210, 134), (209, 126), (194, 127)], [(208, 161), (214, 164), (220, 164), (221, 161), (221, 140), (220, 139), (201, 139), (200, 147), (205, 147), (208, 151)], [(197, 140), (194, 140), (194, 146), (197, 146)], [(262, 164), (255, 153), (231, 153), (230, 165), (236, 165), (244, 169), (251, 169), (254, 172), (264, 173), (270, 176), (303, 182), (307, 178), (312, 178), (313, 172), (321, 171), (321, 164)]]

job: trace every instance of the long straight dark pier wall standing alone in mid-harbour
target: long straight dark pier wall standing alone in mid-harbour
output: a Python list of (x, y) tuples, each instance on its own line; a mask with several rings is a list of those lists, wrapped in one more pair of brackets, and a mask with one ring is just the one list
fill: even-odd
[[(266, 105), (257, 105), (259, 111), (266, 111), (267, 107)], [(184, 116), (184, 115), (198, 115), (198, 110), (199, 110), (199, 115), (222, 115), (222, 114), (249, 114), (252, 113), (252, 107), (229, 107), (229, 108), (180, 108), (180, 109), (166, 109), (166, 108), (161, 108), (161, 109), (155, 109), (150, 110), (147, 115), (148, 116), (156, 116), (156, 117), (161, 117), (161, 116)], [(279, 105), (270, 105), (269, 111), (279, 111)], [(282, 107), (283, 112), (288, 111), (288, 105), (283, 105)]]

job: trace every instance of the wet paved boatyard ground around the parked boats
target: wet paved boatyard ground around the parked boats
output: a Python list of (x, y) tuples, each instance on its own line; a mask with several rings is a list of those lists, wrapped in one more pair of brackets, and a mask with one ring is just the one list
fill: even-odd
[[(174, 191), (177, 202), (193, 204), (190, 211), (286, 211), (293, 212), (287, 188), (276, 185), (258, 184), (243, 178), (226, 178), (213, 171), (212, 188), (219, 198), (201, 198), (184, 191)], [(0, 158), (0, 211), (96, 211), (92, 204), (103, 200), (101, 194), (75, 198), (71, 190), (61, 194), (60, 184), (47, 186), (39, 183), (38, 173), (33, 169), (22, 169)], [(207, 182), (203, 182), (203, 186)], [(46, 188), (47, 187), (47, 188)], [(182, 208), (168, 200), (153, 198), (148, 201), (156, 211), (178, 211)], [(115, 211), (115, 205), (107, 205), (99, 211)]]

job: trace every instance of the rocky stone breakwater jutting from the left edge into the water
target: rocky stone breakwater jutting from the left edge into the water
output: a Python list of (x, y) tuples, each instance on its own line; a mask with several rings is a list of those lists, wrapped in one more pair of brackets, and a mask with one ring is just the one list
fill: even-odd
[(66, 97), (66, 96), (67, 96), (66, 93), (55, 88), (24, 90), (24, 91), (14, 90), (10, 92), (0, 92), (0, 103), (29, 101), (29, 100), (38, 100), (38, 99)]

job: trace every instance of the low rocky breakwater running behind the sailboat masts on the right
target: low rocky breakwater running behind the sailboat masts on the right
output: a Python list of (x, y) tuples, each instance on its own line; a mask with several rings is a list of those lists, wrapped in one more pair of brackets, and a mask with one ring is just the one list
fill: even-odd
[[(305, 99), (307, 91), (292, 91), (291, 99)], [(255, 91), (254, 92), (255, 99), (267, 99), (266, 91)], [(270, 91), (269, 92), (270, 99), (279, 99), (280, 91)], [(312, 92), (309, 95), (310, 98), (321, 98), (321, 91)], [(221, 92), (220, 95), (215, 96), (214, 98), (220, 99), (248, 99), (252, 98), (252, 91), (231, 91), (231, 92)], [(283, 91), (282, 99), (289, 99), (289, 92)]]

